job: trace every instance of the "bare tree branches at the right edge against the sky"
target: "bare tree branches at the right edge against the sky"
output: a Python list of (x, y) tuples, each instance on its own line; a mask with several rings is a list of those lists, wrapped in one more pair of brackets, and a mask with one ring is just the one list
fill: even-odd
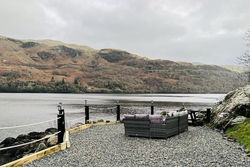
[(242, 56), (237, 58), (239, 64), (247, 67), (246, 74), (248, 76), (248, 84), (250, 83), (250, 29), (246, 32), (244, 36), (244, 40), (246, 42), (246, 51)]

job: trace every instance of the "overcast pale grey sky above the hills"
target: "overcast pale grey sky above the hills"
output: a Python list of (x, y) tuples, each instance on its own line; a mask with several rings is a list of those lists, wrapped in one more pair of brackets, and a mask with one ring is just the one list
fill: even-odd
[(235, 64), (250, 0), (0, 0), (0, 34), (117, 48), (153, 59)]

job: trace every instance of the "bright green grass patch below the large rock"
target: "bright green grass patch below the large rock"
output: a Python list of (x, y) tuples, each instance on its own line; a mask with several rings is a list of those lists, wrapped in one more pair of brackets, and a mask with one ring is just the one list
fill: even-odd
[(228, 128), (226, 134), (250, 150), (250, 118), (247, 118), (242, 124)]

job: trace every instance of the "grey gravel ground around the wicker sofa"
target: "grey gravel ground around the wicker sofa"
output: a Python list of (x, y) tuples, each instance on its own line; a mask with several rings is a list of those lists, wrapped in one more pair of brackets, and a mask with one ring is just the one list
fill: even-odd
[(238, 143), (207, 127), (189, 127), (165, 140), (125, 137), (123, 124), (116, 124), (77, 132), (70, 140), (69, 149), (26, 166), (250, 166)]

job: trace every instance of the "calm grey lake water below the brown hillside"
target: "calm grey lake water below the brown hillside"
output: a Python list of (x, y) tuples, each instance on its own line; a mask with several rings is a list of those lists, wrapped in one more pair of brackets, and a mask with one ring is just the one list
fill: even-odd
[[(31, 94), (31, 93), (0, 93), (0, 127), (23, 125), (35, 122), (56, 119), (57, 105), (62, 102), (64, 105), (67, 126), (71, 126), (76, 118), (84, 117), (84, 102), (89, 105), (113, 106), (119, 100), (121, 106), (138, 104), (150, 105), (153, 100), (155, 110), (173, 110), (180, 108), (183, 104), (189, 108), (204, 108), (212, 106), (222, 100), (224, 94)], [(149, 111), (145, 108), (145, 112)], [(93, 112), (90, 110), (91, 120), (115, 120), (115, 115), (107, 112)], [(82, 119), (84, 120), (84, 119)], [(77, 120), (79, 121), (79, 120)], [(42, 125), (0, 130), (0, 140), (7, 136), (15, 137), (17, 134), (30, 131), (42, 131), (47, 127), (55, 127), (56, 122), (52, 121)]]

